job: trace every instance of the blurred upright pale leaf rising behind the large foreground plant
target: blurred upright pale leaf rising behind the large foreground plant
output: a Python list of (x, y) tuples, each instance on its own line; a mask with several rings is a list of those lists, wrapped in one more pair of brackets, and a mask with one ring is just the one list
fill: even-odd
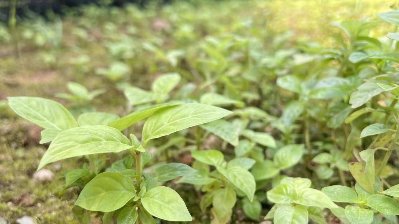
[(179, 84), (181, 79), (178, 73), (167, 73), (156, 78), (151, 89), (156, 94), (166, 95)]

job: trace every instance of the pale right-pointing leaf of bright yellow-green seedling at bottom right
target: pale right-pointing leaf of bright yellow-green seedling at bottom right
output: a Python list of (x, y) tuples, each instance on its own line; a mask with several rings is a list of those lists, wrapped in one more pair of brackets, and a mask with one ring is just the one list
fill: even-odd
[(337, 207), (337, 205), (334, 204), (334, 202), (332, 202), (332, 200), (326, 194), (313, 188), (300, 189), (294, 202), (296, 204), (302, 204), (305, 206), (322, 208)]

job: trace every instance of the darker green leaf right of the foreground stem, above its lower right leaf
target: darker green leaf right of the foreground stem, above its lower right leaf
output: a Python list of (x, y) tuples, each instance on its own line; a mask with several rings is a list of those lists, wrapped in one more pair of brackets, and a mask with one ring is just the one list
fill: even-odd
[(196, 170), (183, 163), (168, 163), (151, 171), (152, 177), (158, 182), (170, 181), (193, 172), (196, 172)]

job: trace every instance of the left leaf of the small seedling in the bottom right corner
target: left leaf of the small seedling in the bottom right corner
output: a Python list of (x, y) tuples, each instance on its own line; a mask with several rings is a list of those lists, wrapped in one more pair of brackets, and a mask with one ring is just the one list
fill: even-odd
[(356, 203), (358, 199), (354, 189), (341, 185), (323, 187), (322, 192), (335, 202)]

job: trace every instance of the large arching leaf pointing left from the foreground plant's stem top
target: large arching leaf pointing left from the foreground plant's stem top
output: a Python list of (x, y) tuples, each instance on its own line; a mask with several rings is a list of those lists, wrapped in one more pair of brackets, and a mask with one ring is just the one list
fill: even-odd
[(126, 136), (108, 126), (82, 126), (61, 132), (40, 160), (38, 169), (48, 163), (79, 155), (117, 153), (133, 147)]

